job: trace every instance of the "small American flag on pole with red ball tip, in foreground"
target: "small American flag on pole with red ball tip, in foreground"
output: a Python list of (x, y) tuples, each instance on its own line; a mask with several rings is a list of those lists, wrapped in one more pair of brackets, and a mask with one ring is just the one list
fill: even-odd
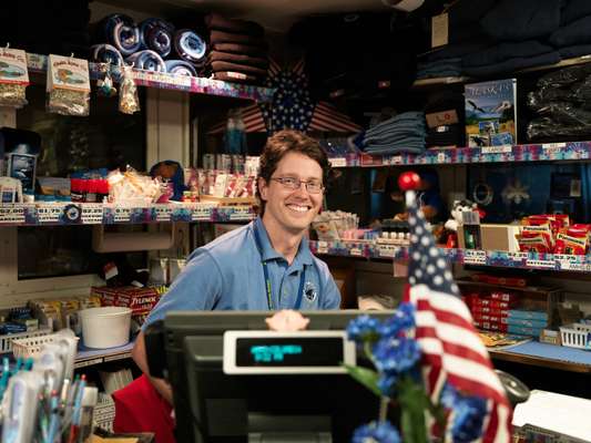
[(406, 204), (410, 257), (405, 299), (416, 306), (416, 339), (428, 392), (436, 401), (447, 381), (465, 394), (487, 399), (481, 441), (509, 442), (511, 408), (501, 382), (414, 190), (407, 190)]

